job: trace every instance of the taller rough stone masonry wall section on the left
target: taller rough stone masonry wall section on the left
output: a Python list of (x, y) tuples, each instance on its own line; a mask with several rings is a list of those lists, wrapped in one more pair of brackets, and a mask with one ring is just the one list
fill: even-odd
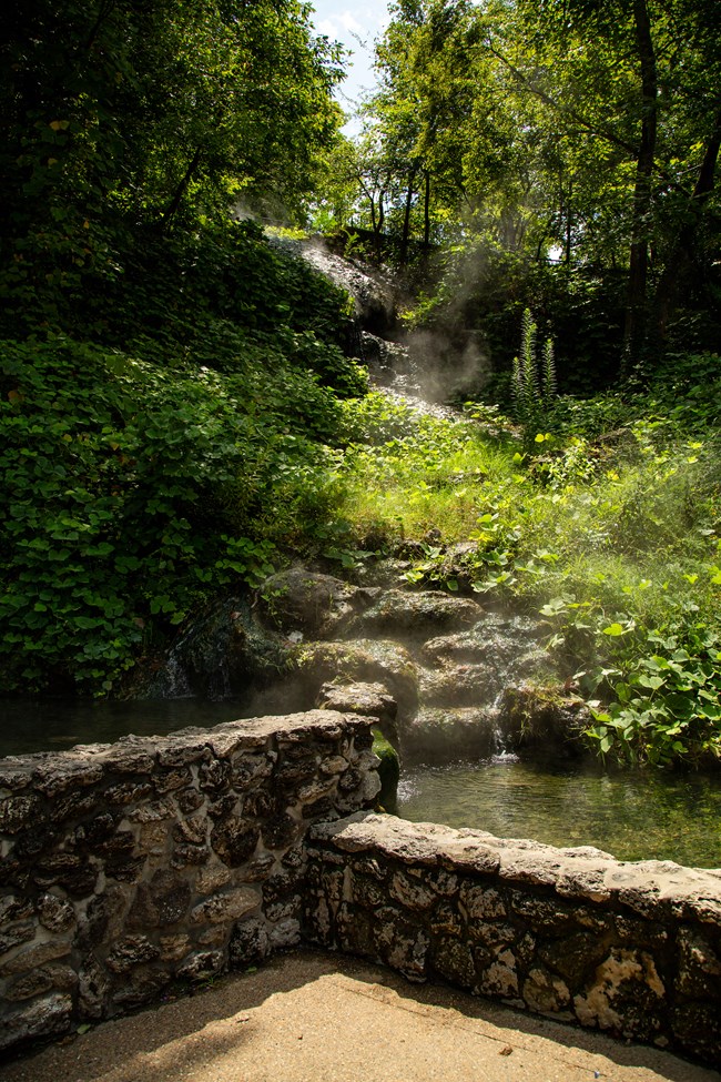
[(0, 1049), (298, 942), (303, 838), (379, 788), (316, 710), (0, 760)]

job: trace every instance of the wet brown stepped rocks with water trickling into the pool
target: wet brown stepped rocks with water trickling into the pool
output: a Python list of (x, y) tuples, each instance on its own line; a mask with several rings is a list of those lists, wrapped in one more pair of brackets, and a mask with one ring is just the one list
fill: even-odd
[[(267, 579), (253, 604), (211, 607), (180, 636), (155, 688), (223, 689), (246, 696), (253, 712), (348, 709), (375, 718), (408, 761), (537, 747), (579, 754), (587, 712), (554, 686), (532, 619), (402, 589), (397, 572), (384, 582), (388, 567), (378, 584), (359, 586), (296, 565)], [(32, 799), (18, 792), (0, 805), (8, 830)]]

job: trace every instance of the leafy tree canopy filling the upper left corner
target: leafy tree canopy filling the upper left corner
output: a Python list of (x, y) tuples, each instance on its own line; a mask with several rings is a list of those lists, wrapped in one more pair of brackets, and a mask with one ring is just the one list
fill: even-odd
[(342, 121), (339, 50), (297, 0), (34, 0), (0, 31), (3, 286), (51, 322), (121, 273), (124, 229), (299, 216)]

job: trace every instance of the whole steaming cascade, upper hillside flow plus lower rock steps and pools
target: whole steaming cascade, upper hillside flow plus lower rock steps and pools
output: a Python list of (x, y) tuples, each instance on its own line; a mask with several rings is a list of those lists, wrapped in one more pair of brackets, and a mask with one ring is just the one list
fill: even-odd
[[(314, 259), (326, 262), (322, 253)], [(457, 416), (428, 401), (424, 372), (409, 352), (379, 337), (393, 327), (393, 290), (328, 259), (336, 281), (355, 290), (358, 312), (367, 305), (358, 342), (378, 388), (419, 412)], [(44, 711), (33, 702), (0, 702), (0, 754), (308, 709), (327, 698), (328, 681), (341, 701), (344, 685), (359, 680), (370, 698), (397, 702), (400, 815), (551, 843), (598, 845), (626, 859), (721, 863), (719, 778), (613, 776), (582, 759), (559, 762), (580, 747), (568, 739), (580, 727), (573, 712), (579, 704), (551, 708), (534, 698), (535, 684), (542, 685), (544, 676), (552, 681), (537, 624), (440, 591), (398, 589), (402, 565), (399, 554), (375, 577), (369, 574), (363, 589), (335, 580), (328, 590), (326, 584), (323, 597), (335, 594), (335, 608), (339, 596), (349, 598), (347, 613), (313, 634), (298, 631), (296, 611), (283, 621), (284, 587), (277, 584), (274, 605), (281, 611), (263, 615), (262, 598), (256, 608), (240, 598), (211, 606), (135, 689), (145, 701), (57, 702)], [(299, 578), (308, 584), (314, 576)], [(311, 590), (309, 608), (323, 608), (319, 597)], [(358, 686), (345, 696), (348, 708), (358, 708)], [(29, 719), (39, 724), (35, 731)]]

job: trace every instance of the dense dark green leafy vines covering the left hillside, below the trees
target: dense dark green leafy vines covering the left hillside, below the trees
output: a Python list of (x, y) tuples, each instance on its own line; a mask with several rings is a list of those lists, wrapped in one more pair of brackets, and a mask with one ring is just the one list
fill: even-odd
[(7, 688), (109, 689), (204, 596), (256, 583), (276, 545), (327, 517), (337, 396), (365, 386), (329, 341), (344, 294), (248, 225), (205, 239), (202, 287), (187, 275), (180, 297), (177, 260), (159, 254), (104, 341), (0, 345)]

